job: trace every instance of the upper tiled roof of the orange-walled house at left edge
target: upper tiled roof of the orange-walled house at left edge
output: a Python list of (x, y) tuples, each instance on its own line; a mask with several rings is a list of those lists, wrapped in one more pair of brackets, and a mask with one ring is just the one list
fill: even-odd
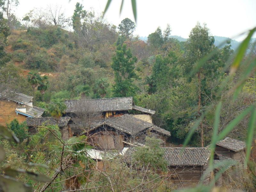
[(17, 92), (13, 92), (13, 91), (5, 91), (0, 93), (0, 97), (4, 98), (4, 99), (9, 99), (21, 104), (27, 104), (28, 102), (30, 102), (33, 97), (22, 94), (22, 93), (17, 93)]

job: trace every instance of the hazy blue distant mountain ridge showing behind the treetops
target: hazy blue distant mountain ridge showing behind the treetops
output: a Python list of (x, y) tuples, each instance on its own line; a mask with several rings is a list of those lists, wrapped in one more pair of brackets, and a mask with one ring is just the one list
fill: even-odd
[[(186, 38), (183, 38), (183, 37), (177, 36), (177, 35), (171, 35), (169, 37), (174, 38), (174, 39), (178, 39), (178, 41), (180, 41), (180, 42), (183, 42), (183, 41), (187, 40)], [(225, 41), (227, 41), (227, 40), (230, 41), (231, 49), (233, 49), (233, 50), (236, 50), (237, 47), (240, 44), (240, 42), (238, 42), (236, 40), (233, 40), (233, 39), (230, 39), (228, 37), (214, 36), (214, 39), (215, 39), (215, 41), (214, 41), (215, 46), (217, 46), (219, 48), (224, 47), (226, 45)], [(140, 40), (146, 42), (148, 40), (148, 37), (146, 37), (146, 36), (140, 37)]]

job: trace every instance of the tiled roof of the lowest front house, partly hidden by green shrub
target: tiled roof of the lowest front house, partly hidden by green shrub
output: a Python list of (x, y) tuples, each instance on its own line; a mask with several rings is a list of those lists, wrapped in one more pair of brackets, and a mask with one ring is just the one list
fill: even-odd
[[(136, 148), (129, 148), (124, 153), (126, 163), (132, 163), (134, 150)], [(204, 166), (210, 158), (209, 148), (163, 148), (163, 150), (165, 150), (163, 158), (169, 166)]]

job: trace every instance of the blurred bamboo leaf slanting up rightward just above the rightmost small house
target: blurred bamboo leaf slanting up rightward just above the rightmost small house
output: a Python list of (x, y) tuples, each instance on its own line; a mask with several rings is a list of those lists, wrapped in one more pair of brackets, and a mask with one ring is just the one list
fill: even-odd
[(252, 111), (253, 106), (246, 108), (242, 113), (236, 116), (223, 130), (220, 132), (217, 141), (224, 139), (224, 137), (232, 131), (232, 129), (250, 112)]

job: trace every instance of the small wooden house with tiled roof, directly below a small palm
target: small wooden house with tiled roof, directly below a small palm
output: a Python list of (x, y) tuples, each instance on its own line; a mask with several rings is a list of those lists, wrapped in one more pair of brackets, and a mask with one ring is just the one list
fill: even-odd
[(70, 117), (60, 117), (58, 121), (53, 117), (27, 117), (26, 122), (28, 125), (28, 133), (30, 134), (38, 132), (40, 126), (58, 125), (63, 140), (68, 140), (68, 138), (73, 136), (70, 129), (70, 124), (73, 122)]

